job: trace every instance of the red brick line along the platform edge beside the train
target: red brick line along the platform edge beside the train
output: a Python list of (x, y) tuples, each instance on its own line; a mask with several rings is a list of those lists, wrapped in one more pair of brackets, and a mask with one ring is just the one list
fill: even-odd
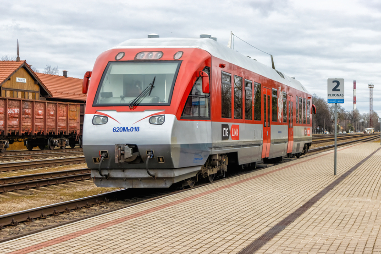
[[(346, 148), (349, 148), (349, 147), (353, 147), (353, 146), (357, 146), (359, 144), (355, 144), (355, 145), (352, 145), (352, 146), (347, 146), (343, 149), (340, 149), (340, 150), (344, 150)], [(163, 205), (160, 205), (160, 206), (157, 206), (157, 207), (153, 207), (153, 208), (150, 208), (150, 209), (147, 209), (145, 211), (141, 211), (141, 212), (137, 212), (135, 214), (131, 214), (131, 215), (128, 215), (128, 216), (124, 216), (124, 217), (121, 217), (119, 219), (115, 219), (115, 220), (111, 220), (109, 222), (105, 222), (105, 223), (102, 223), (102, 224), (99, 224), (99, 225), (96, 225), (94, 227), (91, 227), (91, 228), (87, 228), (87, 229), (84, 229), (84, 230), (80, 230), (80, 231), (77, 231), (77, 232), (74, 232), (74, 233), (70, 233), (68, 235), (65, 235), (65, 236), (61, 236), (61, 237), (58, 237), (58, 238), (55, 238), (55, 239), (52, 239), (52, 240), (49, 240), (49, 241), (46, 241), (46, 242), (43, 242), (43, 243), (38, 243), (36, 245), (33, 245), (33, 246), (29, 246), (29, 247), (26, 247), (26, 248), (23, 248), (23, 249), (19, 249), (17, 251), (13, 251), (13, 252), (10, 252), (8, 254), (24, 254), (24, 253), (29, 253), (29, 252), (32, 252), (32, 251), (37, 251), (39, 249), (42, 249), (42, 248), (46, 248), (46, 247), (49, 247), (49, 246), (52, 246), (54, 244), (58, 244), (58, 243), (62, 243), (64, 241), (68, 241), (68, 240), (71, 240), (73, 238), (76, 238), (78, 236), (82, 236), (82, 235), (85, 235), (87, 233), (91, 233), (91, 232), (94, 232), (94, 231), (98, 231), (98, 230), (101, 230), (101, 229), (104, 229), (104, 228), (107, 228), (107, 227), (110, 227), (110, 226), (114, 226), (118, 223), (122, 223), (122, 222), (125, 222), (127, 220), (131, 220), (131, 219), (135, 219), (137, 217), (140, 217), (140, 216), (143, 216), (143, 215), (146, 215), (146, 214), (149, 214), (151, 212), (156, 212), (158, 210), (162, 210), (162, 209), (165, 209), (167, 207), (170, 207), (170, 206), (174, 206), (176, 204), (181, 204), (181, 203), (184, 203), (184, 202), (187, 202), (187, 201), (190, 201), (190, 200), (193, 200), (193, 199), (196, 199), (196, 198), (200, 198), (202, 196), (205, 196), (205, 195), (208, 195), (208, 194), (211, 194), (211, 193), (215, 193), (217, 191), (220, 191), (220, 190), (224, 190), (224, 189), (227, 189), (227, 188), (230, 188), (232, 186), (235, 186), (235, 185), (239, 185), (240, 183), (245, 183), (245, 182), (248, 182), (248, 181), (251, 181), (255, 178), (259, 178), (259, 177), (263, 177), (265, 175), (269, 175), (269, 174), (272, 174), (272, 173), (275, 173), (275, 172), (278, 172), (280, 170), (283, 170), (283, 169), (287, 169), (289, 167), (292, 167), (292, 166), (295, 166), (295, 165), (298, 165), (298, 164), (301, 164), (301, 163), (304, 163), (306, 161), (311, 161), (311, 160), (314, 160), (314, 159), (317, 159), (317, 158), (320, 158), (322, 156), (326, 156), (328, 154), (331, 154), (333, 152), (330, 152), (330, 153), (326, 153), (326, 154), (322, 154), (320, 156), (316, 156), (314, 158), (310, 158), (310, 159), (305, 159), (303, 161), (300, 161), (300, 162), (296, 162), (296, 163), (293, 163), (291, 165), (288, 165), (288, 166), (284, 166), (284, 167), (280, 167), (279, 169), (274, 169), (274, 170), (271, 170), (269, 172), (266, 172), (266, 173), (263, 173), (263, 174), (259, 174), (259, 175), (255, 175), (253, 177), (249, 177), (249, 178), (246, 178), (246, 179), (242, 179), (242, 180), (239, 180), (237, 182), (234, 182), (234, 183), (229, 183), (227, 185), (224, 185), (224, 186), (221, 186), (221, 187), (218, 187), (216, 189), (213, 189), (213, 190), (208, 190), (208, 191), (204, 191), (202, 193), (199, 193), (199, 194), (196, 194), (196, 195), (193, 195), (193, 196), (190, 196), (188, 198), (183, 198), (183, 199), (180, 199), (178, 201), (173, 201), (173, 202), (170, 202), (170, 203), (167, 203), (167, 204), (163, 204)]]

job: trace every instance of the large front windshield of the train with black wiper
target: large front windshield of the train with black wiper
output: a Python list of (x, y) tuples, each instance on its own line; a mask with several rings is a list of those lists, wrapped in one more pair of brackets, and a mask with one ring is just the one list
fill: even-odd
[(110, 62), (107, 65), (95, 96), (94, 105), (129, 105), (142, 91), (149, 88), (139, 105), (169, 105), (180, 67), (179, 61)]

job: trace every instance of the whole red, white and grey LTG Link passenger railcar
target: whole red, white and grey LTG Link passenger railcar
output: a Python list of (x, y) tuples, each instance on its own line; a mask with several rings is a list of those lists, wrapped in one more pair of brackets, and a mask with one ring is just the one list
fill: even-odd
[(83, 153), (101, 187), (193, 186), (312, 142), (306, 88), (211, 38), (127, 40), (98, 56), (83, 92)]

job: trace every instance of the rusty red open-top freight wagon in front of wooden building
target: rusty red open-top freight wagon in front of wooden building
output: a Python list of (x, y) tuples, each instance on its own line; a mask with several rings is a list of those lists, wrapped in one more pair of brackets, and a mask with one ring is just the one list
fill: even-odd
[(82, 146), (84, 104), (0, 98), (0, 151), (24, 141), (27, 149)]

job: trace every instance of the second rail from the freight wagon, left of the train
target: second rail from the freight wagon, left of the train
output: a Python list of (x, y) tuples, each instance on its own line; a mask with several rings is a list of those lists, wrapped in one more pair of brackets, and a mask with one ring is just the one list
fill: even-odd
[(49, 167), (49, 166), (60, 166), (69, 164), (84, 163), (85, 156), (77, 156), (70, 158), (57, 158), (57, 159), (41, 159), (36, 161), (18, 161), (18, 162), (3, 162), (0, 163), (0, 171), (13, 171), (22, 170), (36, 167)]

